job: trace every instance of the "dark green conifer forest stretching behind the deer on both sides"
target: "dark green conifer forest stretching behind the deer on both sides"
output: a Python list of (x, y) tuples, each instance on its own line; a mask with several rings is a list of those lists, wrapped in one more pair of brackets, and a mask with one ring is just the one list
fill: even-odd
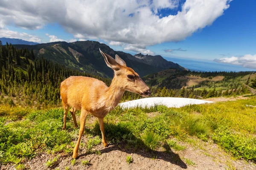
[[(192, 74), (195, 73), (192, 72)], [(209, 76), (208, 73), (198, 74)], [(219, 74), (219, 72), (213, 74)], [(228, 74), (230, 75), (230, 73)], [(67, 68), (44, 58), (36, 58), (32, 49), (17, 49), (12, 44), (2, 45), (0, 42), (0, 103), (33, 105), (38, 108), (61, 105), (60, 84), (70, 76), (93, 77), (102, 80), (108, 86), (111, 84), (111, 79), (85, 73), (79, 69)], [(256, 79), (251, 81), (249, 78), (247, 84), (256, 88)], [(163, 86), (151, 88), (151, 97), (209, 98), (244, 94), (247, 93), (246, 90), (238, 85), (226, 91), (217, 91), (215, 88), (213, 90), (196, 90), (194, 86), (181, 89)], [(122, 101), (140, 98), (142, 98), (140, 95), (126, 91)]]

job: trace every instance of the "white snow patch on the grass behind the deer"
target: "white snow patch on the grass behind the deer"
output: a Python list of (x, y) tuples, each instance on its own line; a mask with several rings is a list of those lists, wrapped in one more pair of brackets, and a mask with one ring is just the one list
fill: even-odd
[(132, 100), (129, 102), (119, 103), (122, 108), (134, 108), (137, 106), (150, 107), (154, 105), (165, 105), (168, 108), (180, 108), (186, 105), (199, 105), (204, 103), (214, 103), (206, 100), (189, 99), (180, 97), (149, 97), (143, 99)]

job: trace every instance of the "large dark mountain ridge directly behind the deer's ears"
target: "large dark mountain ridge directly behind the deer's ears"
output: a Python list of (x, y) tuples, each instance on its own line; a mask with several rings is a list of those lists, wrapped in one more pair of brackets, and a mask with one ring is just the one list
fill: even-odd
[[(165, 62), (169, 64), (164, 66), (156, 65), (155, 63), (134, 57), (131, 54), (122, 51), (114, 51), (108, 45), (97, 41), (77, 41), (70, 43), (50, 42), (38, 45), (15, 45), (15, 47), (32, 48), (35, 56), (38, 58), (44, 57), (48, 60), (58, 62), (61, 65), (77, 68), (84, 72), (98, 74), (104, 77), (113, 77), (113, 71), (106, 65), (99, 52), (99, 48), (113, 58), (115, 54), (119, 55), (126, 62), (127, 66), (133, 68), (141, 77), (164, 70), (169, 68), (169, 66), (175, 66), (175, 68), (180, 70), (185, 69), (165, 59)], [(163, 63), (163, 61), (161, 62)]]

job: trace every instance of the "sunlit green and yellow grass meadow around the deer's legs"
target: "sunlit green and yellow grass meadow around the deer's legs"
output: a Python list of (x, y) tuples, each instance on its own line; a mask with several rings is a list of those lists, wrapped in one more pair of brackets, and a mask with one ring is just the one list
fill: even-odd
[[(256, 105), (256, 98), (183, 108), (117, 107), (105, 117), (105, 135), (113, 144), (125, 143), (126, 149), (148, 151), (163, 144), (184, 150), (177, 141), (200, 147), (200, 141), (211, 139), (234, 158), (256, 162), (256, 108), (246, 105)], [(74, 128), (70, 114), (67, 128), (62, 130), (63, 109), (15, 106), (8, 113), (5, 107), (0, 106), (0, 163), (23, 164), (42, 152), (71, 155), (79, 130)], [(157, 115), (148, 117), (147, 113)], [(92, 153), (93, 147), (101, 144), (98, 121), (86, 126), (85, 134), (87, 143), (81, 147), (84, 145), (87, 153)]]

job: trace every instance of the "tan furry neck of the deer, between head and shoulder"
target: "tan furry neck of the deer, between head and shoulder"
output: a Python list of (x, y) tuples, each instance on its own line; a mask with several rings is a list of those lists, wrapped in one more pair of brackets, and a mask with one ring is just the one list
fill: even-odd
[(115, 108), (120, 102), (125, 90), (119, 86), (119, 81), (115, 76), (111, 82), (111, 85), (106, 90), (105, 100), (107, 101), (106, 105), (110, 108)]

